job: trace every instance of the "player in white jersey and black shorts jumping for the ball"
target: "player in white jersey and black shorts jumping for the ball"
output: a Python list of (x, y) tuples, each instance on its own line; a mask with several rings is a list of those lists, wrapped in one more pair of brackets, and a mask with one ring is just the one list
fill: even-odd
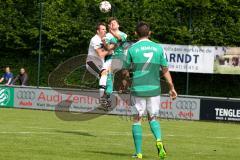
[(106, 72), (102, 69), (105, 57), (111, 55), (111, 50), (106, 50), (103, 46), (102, 40), (106, 36), (106, 25), (105, 23), (98, 23), (96, 27), (96, 35), (92, 37), (89, 48), (88, 56), (86, 60), (86, 68), (94, 76), (99, 78), (99, 90), (100, 90), (100, 100), (104, 96), (105, 84), (107, 77), (104, 76)]

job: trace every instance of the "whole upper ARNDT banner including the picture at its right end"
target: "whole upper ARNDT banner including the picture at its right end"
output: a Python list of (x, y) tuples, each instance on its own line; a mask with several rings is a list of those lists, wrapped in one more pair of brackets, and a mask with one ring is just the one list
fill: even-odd
[(240, 47), (162, 44), (174, 72), (240, 74)]

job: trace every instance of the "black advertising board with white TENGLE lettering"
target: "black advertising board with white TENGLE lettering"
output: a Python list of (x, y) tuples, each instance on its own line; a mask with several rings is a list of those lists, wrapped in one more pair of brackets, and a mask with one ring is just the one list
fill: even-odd
[(200, 119), (240, 121), (240, 101), (202, 99)]

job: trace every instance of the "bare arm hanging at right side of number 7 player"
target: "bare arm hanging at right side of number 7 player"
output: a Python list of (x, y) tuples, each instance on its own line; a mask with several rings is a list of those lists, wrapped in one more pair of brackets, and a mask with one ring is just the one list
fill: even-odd
[(174, 84), (172, 82), (171, 74), (170, 74), (167, 67), (163, 67), (162, 71), (163, 71), (163, 77), (167, 80), (167, 83), (168, 83), (168, 86), (169, 86), (169, 95), (172, 99), (176, 99), (177, 98), (177, 92), (174, 88)]

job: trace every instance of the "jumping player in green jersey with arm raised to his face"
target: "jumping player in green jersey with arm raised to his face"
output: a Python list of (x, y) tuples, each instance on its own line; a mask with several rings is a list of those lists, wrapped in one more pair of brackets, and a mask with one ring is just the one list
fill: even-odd
[[(103, 45), (106, 50), (113, 51), (111, 55), (105, 57), (105, 63), (103, 69), (106, 75), (106, 96), (110, 97), (113, 91), (113, 73), (120, 70), (124, 61), (124, 48), (123, 43), (127, 40), (127, 35), (119, 30), (118, 20), (114, 17), (108, 20), (109, 33), (106, 34), (106, 38), (103, 40)], [(125, 56), (126, 57), (126, 56)], [(114, 64), (114, 65), (113, 65)]]

